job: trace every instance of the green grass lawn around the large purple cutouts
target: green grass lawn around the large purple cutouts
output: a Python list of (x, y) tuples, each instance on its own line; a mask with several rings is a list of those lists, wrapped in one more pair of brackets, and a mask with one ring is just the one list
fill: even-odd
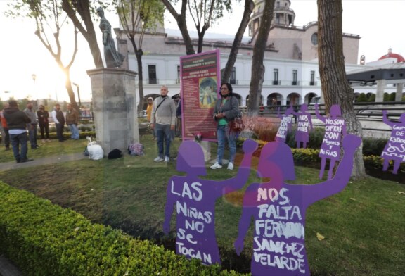
[[(141, 143), (145, 146), (145, 156), (126, 154), (115, 160), (81, 160), (11, 170), (0, 172), (0, 179), (72, 208), (94, 222), (112, 225), (135, 237), (153, 239), (173, 249), (174, 233), (163, 237), (162, 222), (167, 180), (181, 173), (176, 172), (175, 161), (153, 162), (157, 152), (150, 136), (143, 137)], [(178, 140), (174, 143), (173, 155), (179, 143)], [(30, 151), (29, 156), (78, 152), (85, 145), (84, 139), (51, 142)], [(213, 145), (212, 157), (215, 151)], [(1, 154), (0, 161), (7, 158)], [(238, 153), (237, 165), (241, 158)], [(255, 168), (257, 158), (252, 163)], [(319, 170), (297, 166), (295, 171), (297, 180), (293, 183), (319, 182)], [(207, 179), (211, 180), (236, 175), (236, 170), (208, 169), (207, 172)], [(255, 170), (249, 182), (259, 182)], [(339, 194), (310, 206), (305, 232), (311, 275), (405, 275), (405, 194), (399, 192), (405, 192), (404, 184), (367, 177), (349, 182)], [(243, 192), (238, 191), (217, 201), (216, 228), (224, 268), (248, 272), (251, 235), (245, 240), (241, 257), (233, 249), (242, 197)], [(317, 232), (325, 239), (319, 241)]]

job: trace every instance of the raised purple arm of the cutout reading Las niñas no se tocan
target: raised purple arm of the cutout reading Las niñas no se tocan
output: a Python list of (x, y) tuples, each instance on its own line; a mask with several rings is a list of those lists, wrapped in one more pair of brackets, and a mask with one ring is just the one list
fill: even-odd
[(238, 169), (236, 177), (218, 182), (217, 187), (223, 189), (224, 194), (236, 191), (245, 186), (250, 175), (250, 163), (252, 163), (252, 155), (257, 149), (257, 142), (252, 139), (247, 139), (243, 142), (243, 159)]

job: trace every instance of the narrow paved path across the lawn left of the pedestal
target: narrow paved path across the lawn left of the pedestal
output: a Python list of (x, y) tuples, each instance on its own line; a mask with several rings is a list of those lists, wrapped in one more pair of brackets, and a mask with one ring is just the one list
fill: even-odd
[(51, 165), (56, 163), (62, 163), (67, 161), (76, 161), (80, 159), (89, 158), (88, 156), (84, 156), (82, 152), (79, 153), (70, 153), (60, 156), (47, 156), (44, 158), (35, 158), (34, 161), (26, 162), (26, 163), (15, 163), (15, 161), (0, 163), (0, 171), (2, 170), (13, 170), (19, 168), (28, 168), (28, 167), (35, 167), (37, 165)]

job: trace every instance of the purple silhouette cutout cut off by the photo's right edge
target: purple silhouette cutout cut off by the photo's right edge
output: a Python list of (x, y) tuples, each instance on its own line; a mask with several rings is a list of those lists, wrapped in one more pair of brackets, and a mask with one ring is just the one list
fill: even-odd
[(388, 170), (390, 160), (394, 161), (394, 170), (392, 173), (397, 174), (401, 162), (405, 162), (405, 113), (399, 117), (399, 122), (388, 120), (387, 111), (383, 111), (383, 122), (392, 127), (391, 137), (388, 140), (381, 157), (384, 158), (383, 171)]

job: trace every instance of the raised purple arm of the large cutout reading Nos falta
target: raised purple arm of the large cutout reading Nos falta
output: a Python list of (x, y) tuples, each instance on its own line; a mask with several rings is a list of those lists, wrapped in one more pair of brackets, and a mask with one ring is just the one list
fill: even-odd
[(303, 186), (304, 205), (309, 206), (311, 203), (336, 194), (346, 187), (350, 175), (352, 175), (354, 152), (360, 144), (361, 138), (353, 134), (346, 135), (343, 138), (342, 146), (345, 150), (345, 155), (342, 161), (340, 161), (335, 177), (319, 184)]

